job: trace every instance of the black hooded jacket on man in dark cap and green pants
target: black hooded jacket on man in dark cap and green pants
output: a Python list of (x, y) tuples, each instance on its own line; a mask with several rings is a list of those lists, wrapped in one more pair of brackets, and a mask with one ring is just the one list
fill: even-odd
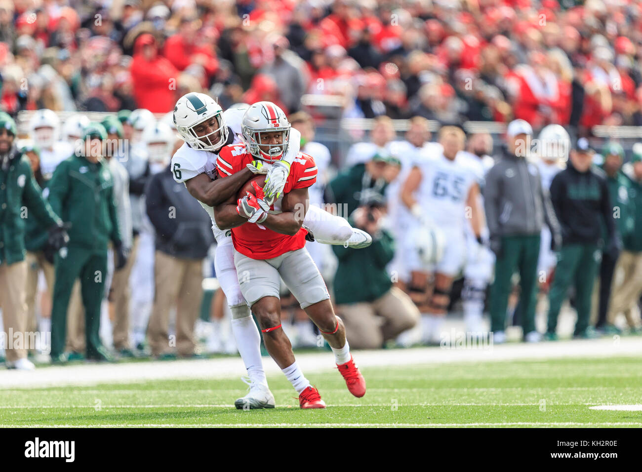
[(551, 202), (562, 228), (562, 243), (596, 244), (605, 223), (609, 238), (615, 234), (609, 187), (602, 171), (578, 172), (568, 167), (551, 182)]

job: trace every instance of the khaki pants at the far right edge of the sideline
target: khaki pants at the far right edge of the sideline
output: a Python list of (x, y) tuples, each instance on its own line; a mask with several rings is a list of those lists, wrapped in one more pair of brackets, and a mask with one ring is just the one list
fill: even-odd
[(630, 328), (638, 326), (636, 307), (642, 294), (642, 252), (621, 252), (613, 275), (612, 290), (608, 322), (612, 324), (618, 313), (624, 313)]

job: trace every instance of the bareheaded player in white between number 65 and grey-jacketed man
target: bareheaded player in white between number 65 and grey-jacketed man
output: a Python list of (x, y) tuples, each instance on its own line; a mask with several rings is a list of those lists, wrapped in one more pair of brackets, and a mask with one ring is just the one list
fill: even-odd
[[(492, 152), (492, 137), (488, 133), (473, 134), (468, 139), (466, 150), (460, 154), (469, 159), (470, 165), (476, 168), (476, 175), (480, 176), (480, 187), (483, 188), (483, 176), (494, 165), (495, 160), (490, 156)], [(483, 197), (479, 195), (480, 212), (483, 214)], [(480, 244), (471, 225), (464, 225), (466, 230), (467, 257), (464, 267), (464, 287), (462, 288), (462, 306), (464, 308), (464, 321), (468, 333), (482, 335), (482, 316), (486, 290), (492, 279), (492, 270), (495, 265), (495, 254), (485, 244)], [(487, 241), (489, 230), (482, 225), (482, 238)], [(474, 336), (475, 334), (471, 334)]]

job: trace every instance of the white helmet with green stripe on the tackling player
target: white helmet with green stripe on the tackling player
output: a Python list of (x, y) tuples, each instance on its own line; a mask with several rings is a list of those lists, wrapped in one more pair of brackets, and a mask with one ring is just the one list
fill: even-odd
[[(194, 128), (204, 121), (216, 118), (218, 128), (207, 134), (198, 135)], [(178, 134), (193, 149), (204, 151), (219, 150), (227, 142), (228, 130), (223, 119), (223, 109), (209, 95), (189, 92), (176, 102), (174, 108), (174, 123)], [(218, 133), (218, 140), (210, 137)]]

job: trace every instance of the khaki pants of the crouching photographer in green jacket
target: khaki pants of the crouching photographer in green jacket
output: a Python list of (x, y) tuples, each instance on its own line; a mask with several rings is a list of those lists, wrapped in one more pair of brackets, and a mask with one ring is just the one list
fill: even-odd
[(419, 310), (397, 287), (390, 288), (374, 302), (338, 305), (336, 311), (352, 349), (378, 349), (419, 320)]

